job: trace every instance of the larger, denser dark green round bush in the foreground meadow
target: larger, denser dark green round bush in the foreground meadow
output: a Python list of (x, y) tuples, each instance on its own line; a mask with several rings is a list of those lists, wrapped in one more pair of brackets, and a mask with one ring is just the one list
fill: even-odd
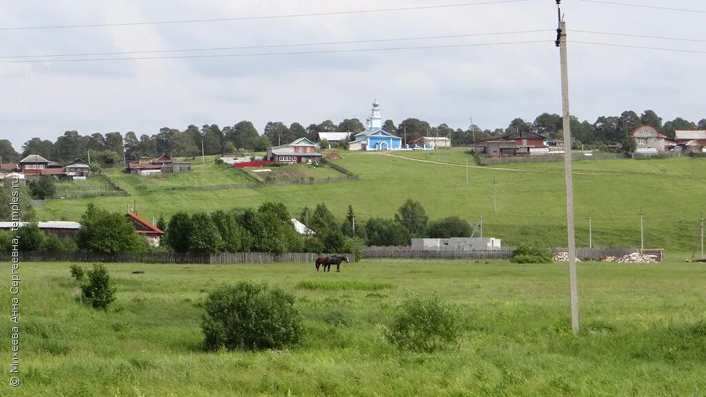
[(205, 348), (261, 350), (299, 343), (301, 318), (294, 296), (266, 284), (241, 281), (208, 295), (201, 329)]

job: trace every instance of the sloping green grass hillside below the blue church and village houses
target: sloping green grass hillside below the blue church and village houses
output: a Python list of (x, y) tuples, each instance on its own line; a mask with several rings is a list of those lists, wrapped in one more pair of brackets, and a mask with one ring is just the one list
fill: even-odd
[[(140, 213), (158, 218), (180, 210), (209, 211), (281, 201), (292, 215), (299, 215), (304, 206), (326, 203), (341, 222), (349, 204), (357, 220), (363, 221), (391, 218), (407, 198), (413, 198), (424, 205), (431, 218), (459, 215), (475, 223), (484, 215), (484, 235), (501, 238), (505, 245), (526, 241), (566, 245), (561, 162), (466, 168), (393, 155), (341, 153), (343, 158), (335, 162), (359, 174), (359, 181), (175, 193), (152, 189), (143, 179), (138, 181), (143, 186), (140, 189), (118, 182), (126, 184), (132, 196), (49, 200), (36, 210), (40, 219), (78, 220), (90, 201), (121, 211), (134, 199)], [(215, 165), (207, 162), (202, 167)], [(198, 168), (194, 168), (196, 175)], [(638, 213), (642, 209), (646, 214), (645, 247), (682, 252), (696, 247), (698, 218), (706, 213), (706, 159), (591, 160), (576, 162), (574, 170), (577, 244), (588, 245), (587, 218), (591, 216), (596, 246), (639, 247)], [(220, 174), (230, 177), (229, 171)], [(155, 183), (152, 179), (149, 182)]]

